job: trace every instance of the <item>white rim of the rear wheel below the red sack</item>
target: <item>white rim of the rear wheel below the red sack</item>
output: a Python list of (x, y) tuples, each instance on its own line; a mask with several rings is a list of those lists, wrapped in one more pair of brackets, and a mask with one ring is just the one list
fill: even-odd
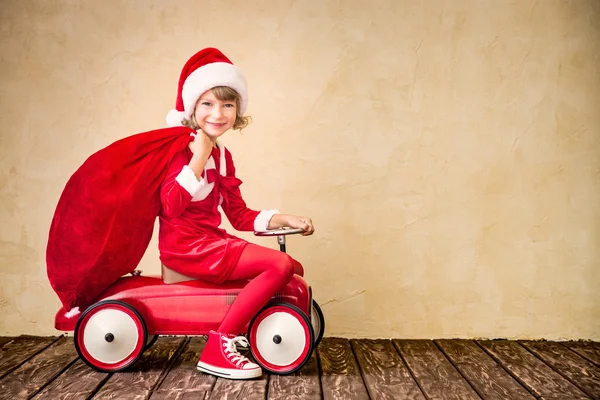
[[(105, 335), (114, 339), (107, 342)], [(127, 358), (137, 347), (138, 327), (133, 318), (121, 310), (105, 309), (92, 315), (83, 332), (83, 344), (95, 360), (116, 364)]]

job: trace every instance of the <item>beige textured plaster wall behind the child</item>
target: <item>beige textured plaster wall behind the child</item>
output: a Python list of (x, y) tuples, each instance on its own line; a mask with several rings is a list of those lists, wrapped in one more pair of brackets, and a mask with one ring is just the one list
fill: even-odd
[(65, 182), (216, 46), (248, 203), (315, 221), (289, 247), (327, 335), (600, 339), (598, 1), (12, 0), (0, 29), (0, 335), (55, 333)]

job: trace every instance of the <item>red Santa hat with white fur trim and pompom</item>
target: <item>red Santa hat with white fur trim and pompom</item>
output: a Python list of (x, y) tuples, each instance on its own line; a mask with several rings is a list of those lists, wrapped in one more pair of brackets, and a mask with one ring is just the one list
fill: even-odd
[(206, 48), (194, 54), (183, 66), (175, 108), (167, 114), (168, 126), (181, 126), (183, 119), (194, 113), (196, 102), (209, 89), (227, 86), (240, 95), (240, 114), (248, 108), (246, 78), (238, 67), (214, 48)]

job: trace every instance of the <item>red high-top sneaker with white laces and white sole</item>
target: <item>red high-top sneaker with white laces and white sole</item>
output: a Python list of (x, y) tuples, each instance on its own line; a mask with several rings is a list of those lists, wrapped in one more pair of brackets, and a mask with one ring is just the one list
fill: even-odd
[(252, 379), (262, 375), (262, 369), (241, 355), (236, 344), (250, 346), (244, 336), (210, 331), (200, 360), (198, 371), (229, 379)]

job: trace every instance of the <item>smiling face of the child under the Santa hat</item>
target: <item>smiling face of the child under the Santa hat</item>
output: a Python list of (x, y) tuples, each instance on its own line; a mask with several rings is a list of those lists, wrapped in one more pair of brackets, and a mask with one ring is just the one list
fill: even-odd
[(204, 133), (216, 140), (235, 123), (235, 100), (221, 101), (215, 97), (212, 90), (208, 90), (198, 99), (194, 116)]

